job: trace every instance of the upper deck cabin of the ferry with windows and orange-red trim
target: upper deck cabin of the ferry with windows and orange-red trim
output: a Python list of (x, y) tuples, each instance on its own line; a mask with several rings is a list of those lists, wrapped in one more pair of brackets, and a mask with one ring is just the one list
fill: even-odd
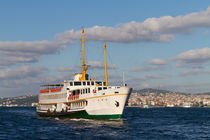
[[(87, 93), (102, 93), (106, 91), (110, 94), (114, 92), (114, 94), (119, 93), (120, 86), (106, 86), (106, 82), (104, 81), (95, 81), (93, 79), (85, 80), (85, 81), (75, 81), (74, 80), (65, 80), (63, 83), (59, 84), (48, 84), (41, 85), (40, 94), (43, 93), (67, 93), (69, 94), (69, 100), (78, 99), (79, 95), (85, 95)], [(101, 95), (104, 95), (102, 93)]]

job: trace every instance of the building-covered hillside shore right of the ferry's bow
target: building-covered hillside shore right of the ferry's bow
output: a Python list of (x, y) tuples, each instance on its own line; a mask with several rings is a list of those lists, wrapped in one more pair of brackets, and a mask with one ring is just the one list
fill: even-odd
[(134, 91), (128, 106), (138, 107), (210, 107), (209, 93), (180, 93), (167, 90), (143, 89)]

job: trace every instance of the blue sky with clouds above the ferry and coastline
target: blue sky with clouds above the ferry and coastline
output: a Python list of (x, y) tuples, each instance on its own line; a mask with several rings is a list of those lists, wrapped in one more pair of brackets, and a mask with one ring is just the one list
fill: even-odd
[(109, 85), (210, 91), (209, 0), (0, 1), (0, 97), (38, 94), (81, 72)]

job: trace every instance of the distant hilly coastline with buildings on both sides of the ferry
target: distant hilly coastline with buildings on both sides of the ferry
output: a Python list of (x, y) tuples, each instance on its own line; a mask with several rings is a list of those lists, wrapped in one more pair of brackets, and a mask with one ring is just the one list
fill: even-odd
[[(1, 97), (0, 107), (36, 106), (38, 95), (18, 97)], [(159, 108), (159, 107), (210, 107), (210, 93), (186, 94), (158, 89), (134, 90), (128, 107)]]

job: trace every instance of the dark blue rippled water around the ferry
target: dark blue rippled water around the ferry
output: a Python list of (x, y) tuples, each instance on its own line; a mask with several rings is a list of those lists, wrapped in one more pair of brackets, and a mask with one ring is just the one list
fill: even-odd
[(38, 118), (0, 108), (0, 139), (210, 139), (210, 108), (125, 108), (122, 120)]

